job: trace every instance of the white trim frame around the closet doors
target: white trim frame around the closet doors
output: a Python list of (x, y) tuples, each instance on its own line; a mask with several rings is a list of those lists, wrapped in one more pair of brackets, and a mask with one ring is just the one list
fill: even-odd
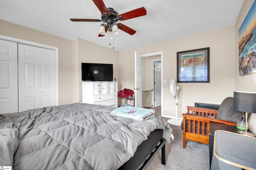
[(59, 105), (59, 48), (58, 47), (52, 47), (49, 45), (44, 45), (44, 44), (40, 44), (40, 43), (35, 43), (35, 42), (31, 42), (31, 41), (26, 41), (23, 39), (17, 39), (17, 38), (13, 38), (13, 37), (7, 37), (4, 35), (0, 35), (0, 39), (6, 40), (6, 41), (13, 41), (16, 43), (21, 43), (21, 44), (26, 44), (26, 45), (32, 45), (32, 46), (36, 46), (36, 47), (41, 47), (41, 48), (46, 48), (46, 49), (51, 49), (51, 50), (55, 50), (55, 68), (56, 68), (56, 80), (55, 80), (55, 105), (58, 106)]

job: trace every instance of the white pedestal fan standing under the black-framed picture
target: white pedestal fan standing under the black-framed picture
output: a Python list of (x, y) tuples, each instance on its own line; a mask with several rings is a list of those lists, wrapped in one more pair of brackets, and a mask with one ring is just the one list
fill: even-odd
[(180, 125), (182, 119), (178, 119), (178, 91), (180, 90), (179, 86), (175, 85), (175, 81), (172, 79), (170, 81), (170, 92), (172, 97), (176, 96), (176, 119), (168, 119), (168, 123), (172, 125)]

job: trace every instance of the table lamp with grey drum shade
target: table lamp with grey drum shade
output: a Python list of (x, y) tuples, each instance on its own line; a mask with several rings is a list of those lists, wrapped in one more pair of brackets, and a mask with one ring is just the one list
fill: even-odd
[(234, 92), (233, 109), (245, 112), (245, 132), (239, 131), (239, 133), (254, 136), (252, 133), (248, 133), (247, 114), (256, 113), (256, 92)]

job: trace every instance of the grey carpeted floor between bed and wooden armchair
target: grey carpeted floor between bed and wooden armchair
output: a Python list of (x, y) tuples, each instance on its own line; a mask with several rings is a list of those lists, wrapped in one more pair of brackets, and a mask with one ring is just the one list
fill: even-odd
[[(164, 117), (168, 120), (168, 118)], [(183, 145), (183, 131), (180, 126), (171, 125), (174, 141), (166, 143), (166, 165), (161, 164), (161, 151), (147, 170), (209, 170), (209, 147), (206, 144), (187, 141)]]

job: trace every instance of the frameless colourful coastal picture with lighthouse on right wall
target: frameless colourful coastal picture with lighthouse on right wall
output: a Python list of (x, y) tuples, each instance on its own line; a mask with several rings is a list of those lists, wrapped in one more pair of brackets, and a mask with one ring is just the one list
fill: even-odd
[(256, 1), (238, 30), (239, 75), (256, 72)]

